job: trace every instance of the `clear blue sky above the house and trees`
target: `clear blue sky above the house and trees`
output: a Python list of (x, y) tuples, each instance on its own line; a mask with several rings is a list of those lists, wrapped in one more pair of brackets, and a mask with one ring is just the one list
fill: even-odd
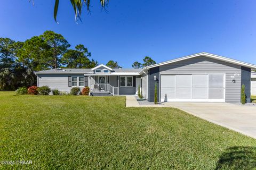
[(74, 48), (85, 45), (100, 64), (114, 60), (123, 67), (144, 56), (157, 63), (208, 52), (256, 64), (256, 1), (117, 1), (108, 13), (91, 0), (82, 22), (74, 22), (67, 0), (61, 0), (58, 22), (53, 0), (0, 1), (0, 37), (24, 41), (45, 30), (61, 33)]

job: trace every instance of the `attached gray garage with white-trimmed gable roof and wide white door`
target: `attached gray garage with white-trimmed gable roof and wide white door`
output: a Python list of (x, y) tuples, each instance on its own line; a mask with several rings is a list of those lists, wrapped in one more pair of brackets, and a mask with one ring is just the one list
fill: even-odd
[(247, 103), (251, 96), (251, 69), (256, 65), (209, 53), (198, 53), (145, 67), (147, 99), (185, 102), (241, 102), (245, 85)]

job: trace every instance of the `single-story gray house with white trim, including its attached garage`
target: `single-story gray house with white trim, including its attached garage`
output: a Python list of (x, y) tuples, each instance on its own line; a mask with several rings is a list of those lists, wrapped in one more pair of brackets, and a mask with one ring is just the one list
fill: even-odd
[(90, 96), (142, 95), (154, 101), (241, 101), (245, 84), (247, 102), (251, 96), (251, 69), (256, 65), (209, 53), (198, 53), (150, 65), (143, 69), (53, 69), (36, 72), (37, 86), (69, 92), (72, 87), (90, 87)]

